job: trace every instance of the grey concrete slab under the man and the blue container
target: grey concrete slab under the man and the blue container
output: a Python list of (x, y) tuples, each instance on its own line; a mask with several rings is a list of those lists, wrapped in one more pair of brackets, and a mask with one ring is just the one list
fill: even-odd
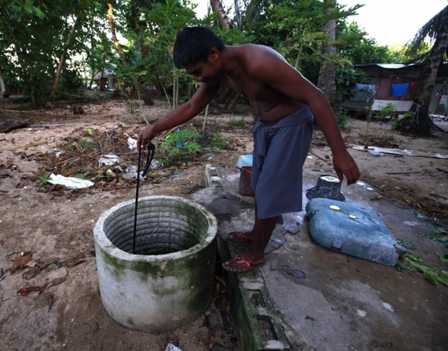
[[(303, 194), (298, 194), (303, 196), (303, 208), (308, 202), (305, 191), (316, 185), (319, 175), (304, 172)], [(220, 180), (213, 188), (192, 198), (217, 217), (218, 235), (250, 230), (254, 199), (239, 195), (238, 169), (218, 168), (215, 177)], [(347, 202), (372, 208), (395, 238), (415, 244), (412, 254), (447, 270), (434, 255), (446, 254), (447, 249), (417, 237), (432, 232), (430, 219), (362, 182), (342, 185), (341, 192)], [(292, 234), (286, 229), (295, 220), (300, 221), (300, 230)], [(219, 247), (222, 260), (244, 251), (222, 241)], [(308, 232), (305, 212), (290, 215), (285, 227), (277, 225), (264, 266), (227, 278), (244, 351), (447, 350), (447, 286), (433, 286), (417, 272), (400, 273), (395, 267), (321, 246)]]

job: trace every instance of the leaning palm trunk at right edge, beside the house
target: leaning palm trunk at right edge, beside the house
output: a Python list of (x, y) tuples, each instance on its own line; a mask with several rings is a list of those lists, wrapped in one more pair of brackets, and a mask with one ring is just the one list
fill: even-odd
[(429, 58), (424, 65), (423, 80), (418, 87), (417, 96), (412, 104), (410, 112), (413, 112), (412, 118), (401, 119), (397, 129), (407, 131), (417, 136), (429, 136), (431, 134), (429, 123), (429, 103), (431, 102), (432, 90), (437, 78), (439, 65), (444, 58), (444, 53), (448, 47), (448, 11), (445, 11), (442, 26), (437, 31), (434, 46), (429, 53)]

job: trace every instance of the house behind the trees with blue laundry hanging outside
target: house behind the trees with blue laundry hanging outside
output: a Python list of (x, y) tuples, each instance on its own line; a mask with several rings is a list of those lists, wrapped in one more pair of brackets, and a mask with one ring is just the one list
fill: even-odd
[[(363, 70), (370, 81), (368, 84), (350, 82), (355, 97), (342, 102), (340, 107), (357, 112), (378, 112), (387, 104), (393, 104), (399, 114), (411, 109), (422, 82), (424, 63), (373, 63), (356, 65), (355, 68)], [(444, 87), (447, 88), (446, 83), (434, 86), (429, 114), (444, 113), (444, 103), (448, 97), (448, 91), (444, 92)]]

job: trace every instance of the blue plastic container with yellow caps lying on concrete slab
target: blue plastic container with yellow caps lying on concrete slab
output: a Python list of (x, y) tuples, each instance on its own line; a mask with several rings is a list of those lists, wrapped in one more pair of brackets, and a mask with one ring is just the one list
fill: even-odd
[(306, 204), (310, 234), (324, 247), (387, 266), (407, 250), (368, 207), (313, 198)]

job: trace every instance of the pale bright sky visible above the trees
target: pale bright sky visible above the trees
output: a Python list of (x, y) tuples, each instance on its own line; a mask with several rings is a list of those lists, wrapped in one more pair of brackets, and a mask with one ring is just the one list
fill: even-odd
[[(207, 13), (207, 0), (194, 0), (197, 13)], [(233, 0), (222, 0), (224, 6), (231, 6)], [(379, 45), (405, 44), (430, 18), (448, 6), (447, 0), (338, 0), (340, 5), (352, 7), (364, 4), (357, 16), (349, 21), (358, 22), (361, 29), (374, 38)]]

